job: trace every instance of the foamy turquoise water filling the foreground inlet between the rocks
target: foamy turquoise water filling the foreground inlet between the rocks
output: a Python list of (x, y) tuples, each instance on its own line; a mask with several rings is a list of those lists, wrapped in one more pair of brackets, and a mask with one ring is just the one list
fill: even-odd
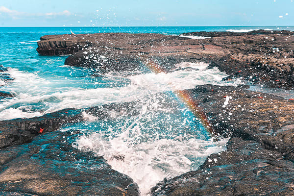
[(139, 114), (133, 117), (113, 114), (93, 123), (97, 118), (83, 113), (93, 130), (83, 130), (73, 147), (103, 156), (114, 170), (130, 176), (142, 195), (164, 178), (196, 170), (209, 154), (223, 151), (228, 139), (208, 139), (199, 120), (170, 96), (150, 95), (138, 103)]

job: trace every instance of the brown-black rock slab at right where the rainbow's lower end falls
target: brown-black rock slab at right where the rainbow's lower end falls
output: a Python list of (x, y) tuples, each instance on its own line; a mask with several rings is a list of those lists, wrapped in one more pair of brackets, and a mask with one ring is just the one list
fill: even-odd
[[(258, 141), (294, 160), (294, 146), (289, 145), (294, 143), (289, 137), (294, 134), (294, 101), (239, 87), (205, 85), (188, 91), (213, 123), (216, 137)], [(227, 96), (231, 99), (224, 107)]]

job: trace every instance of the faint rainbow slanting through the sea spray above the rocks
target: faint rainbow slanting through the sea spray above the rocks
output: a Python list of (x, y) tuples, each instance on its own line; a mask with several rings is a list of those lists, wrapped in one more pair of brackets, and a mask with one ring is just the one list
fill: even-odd
[[(163, 70), (157, 63), (155, 63), (152, 60), (147, 59), (146, 57), (141, 56), (142, 62), (154, 73), (167, 73), (165, 70)], [(201, 123), (205, 127), (205, 129), (213, 134), (214, 127), (209, 122), (208, 118), (206, 117), (203, 110), (199, 107), (198, 103), (196, 102), (195, 98), (191, 95), (191, 93), (187, 90), (173, 90), (173, 93), (182, 100), (187, 107), (192, 111), (193, 115), (200, 119)]]

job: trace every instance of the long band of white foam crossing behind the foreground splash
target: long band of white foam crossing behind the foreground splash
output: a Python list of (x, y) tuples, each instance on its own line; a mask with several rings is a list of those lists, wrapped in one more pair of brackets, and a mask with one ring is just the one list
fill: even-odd
[[(149, 92), (183, 90), (202, 84), (234, 85), (221, 80), (227, 76), (225, 73), (217, 68), (206, 69), (207, 66), (208, 64), (204, 63), (181, 63), (176, 67), (190, 67), (194, 70), (129, 76), (108, 74), (106, 77), (113, 81), (126, 80), (129, 83), (123, 87), (113, 88), (71, 87), (75, 83), (71, 77), (46, 79), (40, 77), (38, 73), (10, 69), (9, 73), (15, 80), (3, 89), (17, 96), (0, 103), (0, 120), (40, 116), (65, 108), (85, 108), (111, 102), (133, 101), (142, 99)], [(68, 82), (68, 85), (58, 87), (61, 82), (64, 84)], [(99, 86), (98, 82), (93, 84)], [(15, 109), (14, 113), (10, 114), (9, 108)]]

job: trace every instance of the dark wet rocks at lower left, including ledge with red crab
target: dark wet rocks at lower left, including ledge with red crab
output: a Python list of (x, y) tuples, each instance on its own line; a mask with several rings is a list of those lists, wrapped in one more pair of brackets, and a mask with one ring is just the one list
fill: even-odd
[[(135, 107), (136, 102), (112, 103), (0, 122), (0, 195), (140, 195), (138, 185), (112, 170), (103, 157), (72, 147), (81, 132), (58, 130), (84, 121), (84, 113), (106, 119), (107, 111)], [(135, 114), (133, 110), (129, 115)]]

